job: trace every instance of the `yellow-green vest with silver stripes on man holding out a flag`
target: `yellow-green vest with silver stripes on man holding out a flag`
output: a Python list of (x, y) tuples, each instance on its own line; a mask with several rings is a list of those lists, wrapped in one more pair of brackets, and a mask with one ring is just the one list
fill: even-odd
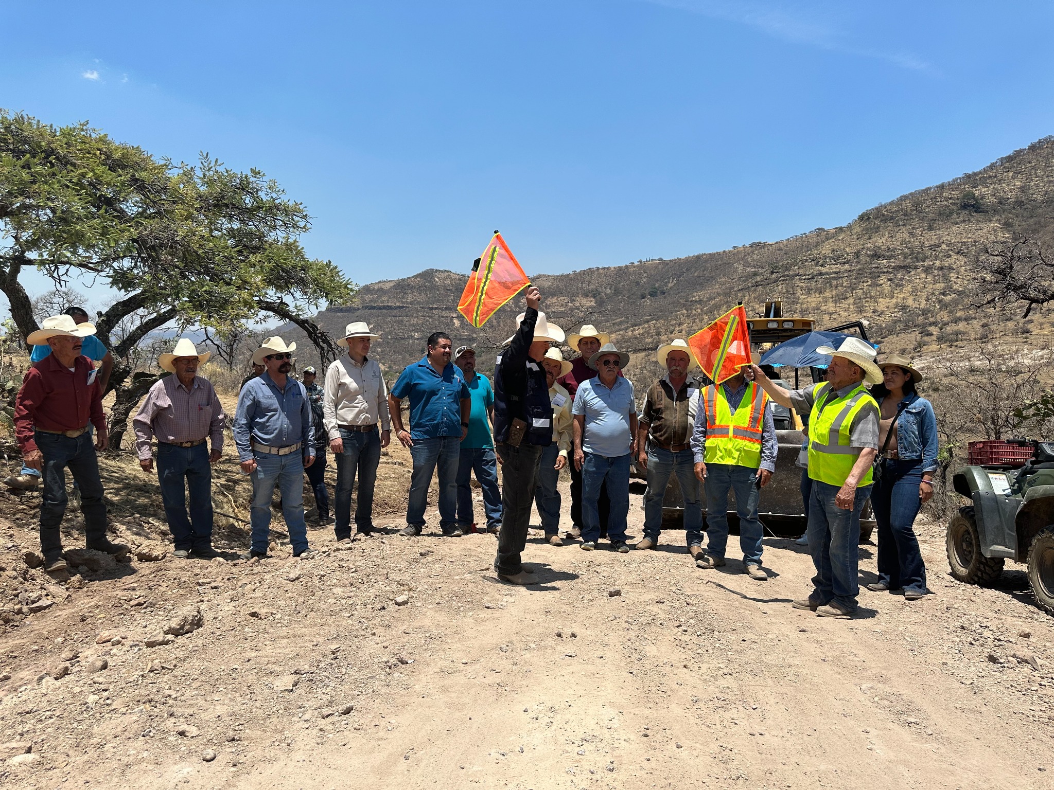
[[(843, 397), (823, 381), (814, 391), (816, 400), (808, 417), (808, 476), (831, 486), (841, 487), (860, 457), (860, 448), (850, 447), (853, 419), (868, 406), (878, 411), (878, 403), (862, 383)], [(834, 396), (834, 397), (832, 397)], [(857, 488), (872, 483), (871, 469), (860, 478)]]

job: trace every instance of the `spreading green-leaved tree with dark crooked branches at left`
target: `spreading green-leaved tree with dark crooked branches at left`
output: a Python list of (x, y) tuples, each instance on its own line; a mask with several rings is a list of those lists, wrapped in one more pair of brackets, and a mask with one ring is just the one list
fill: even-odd
[[(20, 281), (30, 268), (57, 289), (90, 276), (120, 294), (96, 321), (116, 359), (115, 448), (156, 380), (132, 378), (132, 351), (161, 327), (232, 333), (270, 315), (299, 327), (324, 361), (335, 358), (310, 315), (350, 303), (356, 289), (331, 261), (307, 256), (299, 237), (309, 229), (304, 206), (257, 170), (208, 155), (176, 164), (86, 123), (55, 127), (0, 111), (0, 291), (23, 338), (38, 328)], [(113, 344), (134, 314), (142, 320)]]

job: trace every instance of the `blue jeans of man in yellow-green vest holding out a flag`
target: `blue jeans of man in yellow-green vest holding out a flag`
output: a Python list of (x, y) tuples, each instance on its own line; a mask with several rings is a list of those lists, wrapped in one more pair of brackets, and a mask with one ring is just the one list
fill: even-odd
[(835, 505), (839, 486), (813, 480), (808, 500), (808, 551), (813, 555), (815, 590), (809, 596), (820, 606), (836, 600), (856, 611), (860, 593), (857, 574), (860, 567), (860, 511), (871, 496), (871, 486), (856, 491), (853, 510)]

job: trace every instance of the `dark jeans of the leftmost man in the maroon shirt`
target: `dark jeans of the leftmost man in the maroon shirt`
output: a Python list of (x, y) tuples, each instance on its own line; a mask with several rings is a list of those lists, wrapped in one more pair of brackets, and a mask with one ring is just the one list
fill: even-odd
[(74, 482), (80, 486), (80, 512), (84, 514), (85, 542), (89, 549), (106, 540), (106, 506), (102, 501), (102, 480), (99, 457), (87, 431), (77, 438), (36, 431), (37, 449), (44, 456), (44, 490), (40, 500), (40, 550), (45, 559), (62, 553), (59, 528), (69, 498), (65, 493), (65, 470), (69, 467)]

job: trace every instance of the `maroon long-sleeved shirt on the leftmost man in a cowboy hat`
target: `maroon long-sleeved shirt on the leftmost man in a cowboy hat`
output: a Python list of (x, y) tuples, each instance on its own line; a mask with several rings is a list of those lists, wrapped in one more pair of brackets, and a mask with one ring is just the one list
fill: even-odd
[[(87, 383), (87, 377), (93, 383)], [(33, 430), (76, 431), (91, 419), (97, 431), (106, 430), (102, 413), (102, 388), (92, 360), (79, 356), (74, 370), (63, 368), (48, 354), (25, 372), (22, 389), (15, 398), (15, 435), (22, 453), (37, 449)]]

